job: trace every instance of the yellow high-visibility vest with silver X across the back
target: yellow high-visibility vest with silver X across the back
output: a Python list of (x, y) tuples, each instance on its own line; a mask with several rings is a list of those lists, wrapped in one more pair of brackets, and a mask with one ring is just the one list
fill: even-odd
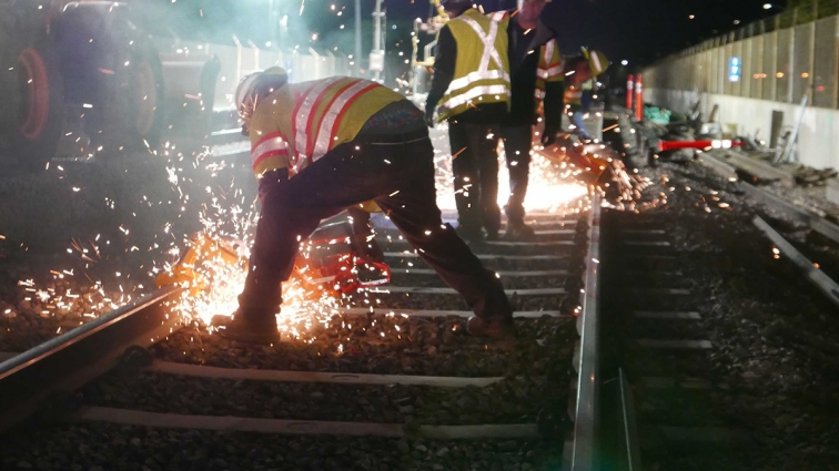
[(457, 44), (457, 61), (437, 110), (439, 121), (483, 103), (509, 107), (508, 21), (503, 11), (484, 17), (471, 9), (446, 23)]

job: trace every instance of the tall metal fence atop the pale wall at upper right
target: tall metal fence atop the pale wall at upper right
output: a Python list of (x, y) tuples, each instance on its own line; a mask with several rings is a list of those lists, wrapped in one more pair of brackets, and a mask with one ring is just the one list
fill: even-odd
[(839, 0), (813, 1), (668, 57), (647, 88), (839, 107)]

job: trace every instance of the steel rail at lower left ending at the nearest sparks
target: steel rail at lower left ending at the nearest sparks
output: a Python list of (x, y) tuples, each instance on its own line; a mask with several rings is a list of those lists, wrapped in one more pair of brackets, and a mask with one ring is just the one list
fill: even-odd
[(180, 293), (170, 287), (142, 296), (0, 364), (0, 431), (108, 371), (125, 348), (169, 335), (178, 319), (165, 301)]

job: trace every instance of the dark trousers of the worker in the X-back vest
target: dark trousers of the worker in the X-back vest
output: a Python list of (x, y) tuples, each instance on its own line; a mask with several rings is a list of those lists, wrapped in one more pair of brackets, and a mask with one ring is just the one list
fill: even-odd
[(448, 142), (458, 223), (471, 228), (483, 226), (488, 234), (497, 234), (501, 228), (498, 125), (455, 117), (448, 121)]

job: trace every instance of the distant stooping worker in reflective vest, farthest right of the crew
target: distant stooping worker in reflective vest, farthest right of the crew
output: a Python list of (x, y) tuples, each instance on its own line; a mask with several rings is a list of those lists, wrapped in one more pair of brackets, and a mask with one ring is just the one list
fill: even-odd
[(592, 95), (594, 93), (594, 82), (597, 75), (606, 72), (609, 61), (606, 54), (599, 51), (589, 51), (583, 48), (582, 53), (566, 60), (566, 89), (565, 102), (568, 106), (568, 117), (572, 124), (577, 129), (579, 137), (586, 141), (592, 140), (592, 135), (586, 131), (585, 115), (592, 107)]

